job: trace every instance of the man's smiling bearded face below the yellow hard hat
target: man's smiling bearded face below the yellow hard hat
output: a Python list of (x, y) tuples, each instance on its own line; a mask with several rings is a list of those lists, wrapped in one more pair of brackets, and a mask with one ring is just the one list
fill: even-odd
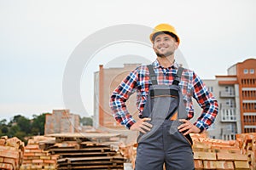
[(175, 38), (168, 34), (160, 34), (154, 38), (154, 52), (159, 57), (172, 56), (178, 47)]

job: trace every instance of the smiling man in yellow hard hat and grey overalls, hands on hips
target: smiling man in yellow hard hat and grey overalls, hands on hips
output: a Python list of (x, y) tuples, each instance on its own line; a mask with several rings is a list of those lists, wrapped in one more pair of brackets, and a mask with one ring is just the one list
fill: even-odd
[[(173, 26), (160, 24), (150, 35), (157, 55), (152, 65), (142, 65), (113, 91), (110, 107), (117, 122), (139, 131), (136, 170), (195, 169), (189, 133), (205, 131), (218, 114), (218, 103), (194, 71), (177, 65), (174, 52), (180, 39)], [(137, 91), (140, 120), (135, 121), (125, 101)], [(192, 124), (192, 97), (202, 108)]]

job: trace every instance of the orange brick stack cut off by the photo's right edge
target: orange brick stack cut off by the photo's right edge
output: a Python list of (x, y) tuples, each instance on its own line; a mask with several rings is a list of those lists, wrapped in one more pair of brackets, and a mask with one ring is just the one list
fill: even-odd
[(251, 169), (256, 169), (256, 133), (236, 134), (241, 153), (247, 155)]

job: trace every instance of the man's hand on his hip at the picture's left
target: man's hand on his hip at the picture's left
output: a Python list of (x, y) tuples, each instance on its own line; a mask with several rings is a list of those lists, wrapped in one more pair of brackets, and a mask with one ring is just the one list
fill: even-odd
[(150, 121), (150, 120), (151, 120), (150, 118), (140, 119), (139, 121), (137, 121), (133, 125), (131, 125), (130, 129), (133, 131), (139, 131), (141, 133), (147, 133), (146, 131), (150, 131), (151, 127), (153, 127), (152, 124), (146, 122), (146, 121)]

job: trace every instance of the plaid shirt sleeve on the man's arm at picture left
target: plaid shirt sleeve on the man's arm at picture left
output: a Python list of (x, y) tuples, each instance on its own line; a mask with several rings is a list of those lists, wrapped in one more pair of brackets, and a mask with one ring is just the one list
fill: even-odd
[(109, 101), (109, 106), (116, 121), (128, 129), (130, 129), (131, 125), (133, 125), (136, 121), (127, 111), (125, 101), (129, 99), (133, 89), (136, 88), (136, 84), (137, 69), (131, 71), (131, 73), (125, 77), (119, 86), (114, 89)]

